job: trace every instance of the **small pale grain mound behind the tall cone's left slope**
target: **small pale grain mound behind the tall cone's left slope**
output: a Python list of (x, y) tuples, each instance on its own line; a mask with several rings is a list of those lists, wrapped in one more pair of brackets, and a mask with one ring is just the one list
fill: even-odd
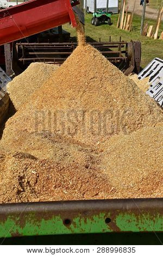
[(39, 89), (58, 68), (51, 64), (32, 63), (21, 75), (8, 83), (7, 90), (15, 109), (18, 110), (24, 102), (28, 101), (29, 96)]

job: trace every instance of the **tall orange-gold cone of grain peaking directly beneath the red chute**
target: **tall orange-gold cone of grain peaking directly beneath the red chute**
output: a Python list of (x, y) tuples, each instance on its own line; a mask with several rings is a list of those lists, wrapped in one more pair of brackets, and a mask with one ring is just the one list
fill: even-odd
[[(100, 52), (90, 45), (78, 46), (8, 120), (1, 147), (17, 151), (29, 141), (37, 147), (30, 135), (44, 131), (94, 147), (162, 119), (161, 109)], [(23, 133), (28, 136), (22, 143)]]

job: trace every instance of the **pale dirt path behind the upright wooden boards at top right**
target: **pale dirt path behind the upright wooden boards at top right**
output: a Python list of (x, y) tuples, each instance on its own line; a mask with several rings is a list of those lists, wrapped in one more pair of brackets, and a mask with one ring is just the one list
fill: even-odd
[[(135, 0), (128, 0), (127, 2), (128, 2), (129, 11), (130, 12), (133, 11)], [(143, 7), (142, 5), (140, 5), (140, 0), (136, 0), (134, 13), (141, 16), (142, 10), (143, 10)], [(146, 17), (149, 19), (156, 20), (158, 17), (158, 11), (159, 9), (154, 9), (150, 7), (150, 0), (149, 0), (149, 6), (146, 7)], [(162, 17), (162, 20), (163, 20), (163, 17)]]

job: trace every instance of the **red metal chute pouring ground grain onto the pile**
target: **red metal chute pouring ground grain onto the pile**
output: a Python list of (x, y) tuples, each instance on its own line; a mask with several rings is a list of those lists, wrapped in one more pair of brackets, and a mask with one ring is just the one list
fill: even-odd
[(0, 45), (67, 22), (77, 26), (70, 0), (30, 0), (0, 11)]

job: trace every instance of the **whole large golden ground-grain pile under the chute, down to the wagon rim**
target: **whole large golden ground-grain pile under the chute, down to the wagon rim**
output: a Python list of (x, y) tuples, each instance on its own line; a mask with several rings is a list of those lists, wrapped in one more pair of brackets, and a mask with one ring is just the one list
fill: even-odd
[(83, 37), (21, 106), (0, 142), (0, 202), (163, 196), (161, 109)]

